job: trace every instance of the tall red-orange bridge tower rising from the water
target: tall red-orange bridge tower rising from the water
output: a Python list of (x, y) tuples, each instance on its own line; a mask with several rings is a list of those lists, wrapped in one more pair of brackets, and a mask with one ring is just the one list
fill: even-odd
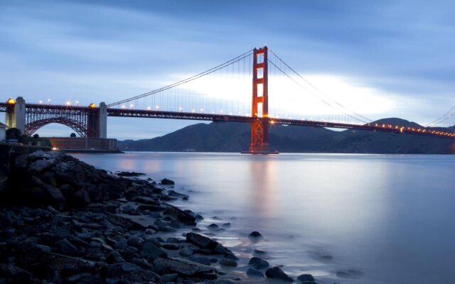
[(250, 153), (269, 151), (269, 97), (267, 46), (253, 50), (252, 112)]

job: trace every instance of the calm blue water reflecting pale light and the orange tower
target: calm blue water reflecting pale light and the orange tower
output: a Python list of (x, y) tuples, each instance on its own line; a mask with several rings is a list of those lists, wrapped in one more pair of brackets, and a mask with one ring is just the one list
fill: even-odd
[[(264, 249), (291, 275), (312, 273), (319, 283), (455, 283), (453, 155), (75, 156), (175, 180), (177, 190), (191, 192), (178, 204), (206, 217), (200, 228), (230, 222), (216, 235), (223, 244), (245, 257)], [(256, 244), (247, 239), (253, 230), (264, 236)], [(348, 270), (363, 275), (337, 277)]]

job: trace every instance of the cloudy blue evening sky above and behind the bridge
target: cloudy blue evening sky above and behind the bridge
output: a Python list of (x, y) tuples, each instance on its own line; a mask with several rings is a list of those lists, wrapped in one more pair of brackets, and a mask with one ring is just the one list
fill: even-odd
[[(369, 119), (427, 124), (455, 105), (453, 11), (453, 1), (419, 0), (0, 0), (0, 94), (117, 102), (267, 45)], [(152, 138), (195, 123), (109, 118), (108, 136)]]

